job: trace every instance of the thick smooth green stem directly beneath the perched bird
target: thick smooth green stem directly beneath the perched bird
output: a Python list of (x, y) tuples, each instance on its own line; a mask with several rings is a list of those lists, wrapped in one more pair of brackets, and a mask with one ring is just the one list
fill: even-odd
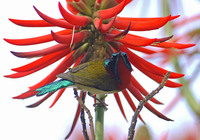
[[(105, 101), (105, 95), (97, 94), (96, 97), (102, 102)], [(104, 140), (104, 110), (103, 105), (97, 104), (95, 107), (95, 140)]]

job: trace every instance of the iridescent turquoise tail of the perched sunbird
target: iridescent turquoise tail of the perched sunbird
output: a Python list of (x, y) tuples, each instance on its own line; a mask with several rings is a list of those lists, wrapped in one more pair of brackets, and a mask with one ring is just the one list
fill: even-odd
[(61, 88), (65, 88), (65, 87), (68, 87), (71, 85), (74, 85), (74, 83), (72, 83), (68, 80), (61, 79), (61, 80), (52, 82), (50, 84), (44, 85), (44, 86), (36, 89), (35, 91), (38, 91), (37, 96), (41, 96), (46, 93), (54, 92)]

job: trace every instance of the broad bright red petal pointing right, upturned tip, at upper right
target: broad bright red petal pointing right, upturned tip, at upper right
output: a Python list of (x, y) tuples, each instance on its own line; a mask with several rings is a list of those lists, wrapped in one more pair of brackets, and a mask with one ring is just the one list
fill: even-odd
[[(171, 15), (158, 18), (157, 20), (149, 20), (149, 21), (134, 21), (131, 20), (131, 31), (147, 31), (147, 30), (154, 30), (164, 26), (169, 20)], [(119, 20), (116, 19), (114, 26), (118, 29), (126, 29), (127, 25), (130, 21), (128, 20)]]

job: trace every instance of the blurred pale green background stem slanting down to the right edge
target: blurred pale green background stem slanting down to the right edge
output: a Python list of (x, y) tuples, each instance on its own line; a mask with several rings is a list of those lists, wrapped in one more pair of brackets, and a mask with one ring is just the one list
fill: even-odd
[[(177, 73), (182, 73), (181, 66), (178, 62), (178, 58), (176, 56), (173, 57), (173, 65)], [(179, 78), (179, 82), (183, 84), (183, 87), (180, 88), (182, 95), (185, 97), (188, 105), (192, 109), (192, 111), (198, 116), (200, 119), (200, 104), (195, 100), (191, 90), (190, 84), (185, 78)]]

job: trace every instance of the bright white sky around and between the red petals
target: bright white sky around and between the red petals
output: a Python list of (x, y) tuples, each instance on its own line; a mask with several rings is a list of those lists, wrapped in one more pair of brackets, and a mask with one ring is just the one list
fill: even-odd
[[(155, 0), (152, 0), (155, 1)], [(65, 5), (65, 1), (60, 1)], [(129, 6), (120, 13), (120, 16), (127, 17), (138, 17), (141, 12), (141, 4), (137, 1), (132, 2)], [(61, 17), (58, 10), (58, 1), (57, 0), (6, 0), (0, 2), (0, 56), (1, 61), (0, 65), (0, 82), (1, 82), (1, 98), (0, 98), (0, 139), (11, 140), (11, 139), (20, 139), (20, 140), (61, 140), (68, 133), (74, 115), (77, 108), (77, 101), (74, 98), (72, 89), (66, 90), (65, 94), (62, 95), (62, 98), (55, 104), (55, 106), (49, 109), (55, 96), (50, 97), (47, 101), (41, 104), (37, 108), (26, 108), (25, 106), (34, 103), (38, 100), (37, 97), (33, 97), (27, 100), (14, 100), (12, 97), (17, 96), (25, 91), (28, 87), (39, 82), (46, 74), (50, 73), (55, 66), (59, 63), (55, 63), (52, 66), (47, 67), (44, 70), (41, 70), (30, 76), (19, 78), (19, 79), (9, 79), (4, 78), (3, 75), (13, 73), (12, 68), (22, 66), (29, 62), (32, 62), (33, 59), (20, 59), (13, 56), (10, 51), (30, 51), (37, 50), (51, 46), (54, 43), (44, 43), (41, 45), (33, 46), (14, 46), (6, 43), (3, 38), (28, 38), (38, 35), (50, 33), (49, 28), (26, 28), (20, 27), (15, 24), (12, 24), (8, 18), (16, 19), (40, 19), (37, 13), (33, 9), (35, 5), (43, 13), (50, 15), (51, 17), (59, 18)], [(155, 5), (151, 5), (155, 6)], [(186, 15), (194, 15), (200, 13), (198, 1), (185, 0), (184, 8), (187, 8), (190, 12), (187, 12)], [(146, 15), (142, 16), (158, 16), (156, 8), (155, 11), (151, 11)], [(178, 12), (177, 12), (178, 13)], [(181, 18), (181, 17), (180, 17)], [(53, 31), (58, 30), (58, 28), (53, 29)], [(141, 33), (140, 33), (141, 34)], [(159, 30), (156, 32), (146, 32), (144, 36), (157, 37)], [(192, 43), (192, 42), (191, 42)], [(168, 70), (172, 70), (171, 67), (166, 67)], [(151, 92), (158, 85), (152, 80), (141, 74), (137, 69), (134, 68), (133, 75), (138, 79), (138, 81)], [(194, 86), (194, 90), (197, 89)], [(197, 92), (198, 93), (198, 92)], [(167, 104), (171, 101), (176, 95), (176, 89), (164, 88), (156, 98), (161, 102)], [(120, 130), (123, 135), (127, 135), (128, 128), (130, 126), (131, 117), (133, 111), (130, 109), (128, 103), (125, 101), (123, 96), (120, 96), (122, 103), (125, 109), (125, 114), (127, 115), (128, 122), (123, 118), (116, 101), (113, 95), (109, 95), (106, 98), (106, 103), (109, 104), (108, 111), (105, 112), (105, 129), (110, 130)], [(138, 102), (133, 98), (136, 104)], [(93, 99), (90, 97), (86, 99), (86, 105), (92, 111), (94, 115), (93, 108)], [(166, 105), (154, 105), (156, 109), (162, 111)], [(186, 122), (194, 122), (194, 116), (190, 109), (185, 104), (184, 100), (181, 101), (172, 112), (166, 114), (169, 118), (173, 119), (174, 122), (167, 122), (162, 119), (159, 119), (151, 112), (147, 111), (145, 108), (141, 113), (143, 119), (145, 120), (148, 127), (151, 128), (151, 132), (155, 135), (161, 134), (163, 131), (168, 129), (180, 129), (183, 124)], [(86, 116), (87, 118), (87, 116)], [(137, 126), (139, 126), (141, 121), (138, 121)], [(158, 127), (159, 125), (159, 127)], [(78, 122), (75, 130), (80, 126)], [(78, 129), (77, 129), (78, 130)]]

